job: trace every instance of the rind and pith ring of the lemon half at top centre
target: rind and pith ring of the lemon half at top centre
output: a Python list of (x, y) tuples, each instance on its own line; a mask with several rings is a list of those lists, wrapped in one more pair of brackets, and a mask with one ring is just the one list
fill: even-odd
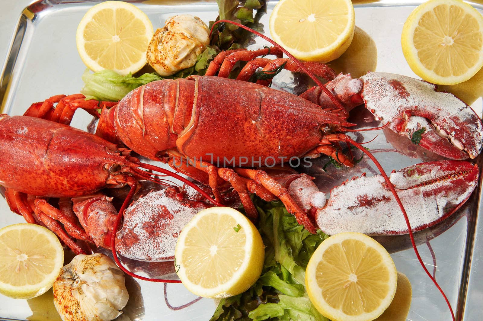
[(350, 0), (344, 0), (344, 4), (347, 6), (347, 25), (345, 26), (344, 30), (341, 34), (337, 37), (337, 39), (327, 47), (320, 48), (317, 50), (311, 51), (300, 51), (294, 47), (287, 46), (283, 43), (280, 39), (280, 36), (274, 32), (273, 25), (274, 19), (278, 14), (278, 10), (283, 3), (288, 0), (281, 0), (277, 3), (273, 12), (270, 15), (269, 27), (270, 27), (270, 36), (272, 37), (273, 41), (277, 44), (281, 44), (288, 52), (290, 52), (294, 57), (305, 60), (305, 61), (319, 61), (319, 62), (329, 62), (334, 59), (339, 58), (344, 51), (349, 47), (354, 38), (354, 28), (355, 28), (355, 12), (354, 6)]

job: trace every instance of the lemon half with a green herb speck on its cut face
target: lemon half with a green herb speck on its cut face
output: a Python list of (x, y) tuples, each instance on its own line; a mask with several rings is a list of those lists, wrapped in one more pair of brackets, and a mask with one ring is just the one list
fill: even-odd
[(262, 238), (252, 222), (231, 207), (211, 207), (181, 231), (174, 264), (189, 291), (222, 299), (256, 282), (264, 256)]

